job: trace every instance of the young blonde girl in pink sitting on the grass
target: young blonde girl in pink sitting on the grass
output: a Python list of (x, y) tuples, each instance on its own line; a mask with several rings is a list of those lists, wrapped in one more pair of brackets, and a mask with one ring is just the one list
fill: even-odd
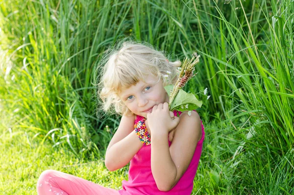
[(181, 62), (132, 41), (106, 56), (98, 94), (103, 109), (113, 108), (122, 119), (107, 147), (105, 166), (114, 171), (130, 162), (128, 181), (117, 191), (46, 170), (37, 183), (38, 195), (190, 195), (204, 127), (196, 111), (169, 111), (164, 89), (175, 83)]

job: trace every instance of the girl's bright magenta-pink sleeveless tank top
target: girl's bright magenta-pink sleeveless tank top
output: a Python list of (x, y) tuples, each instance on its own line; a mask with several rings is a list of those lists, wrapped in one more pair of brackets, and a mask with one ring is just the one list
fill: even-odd
[[(176, 115), (177, 111), (173, 111)], [(181, 114), (180, 111), (178, 111)], [(134, 123), (141, 120), (137, 116)], [(151, 145), (142, 146), (130, 161), (128, 181), (123, 180), (121, 195), (191, 195), (204, 140), (204, 127), (201, 121), (202, 138), (198, 141), (192, 161), (178, 183), (168, 192), (159, 191), (151, 172)], [(152, 144), (152, 140), (151, 140)], [(169, 146), (172, 142), (169, 140)]]

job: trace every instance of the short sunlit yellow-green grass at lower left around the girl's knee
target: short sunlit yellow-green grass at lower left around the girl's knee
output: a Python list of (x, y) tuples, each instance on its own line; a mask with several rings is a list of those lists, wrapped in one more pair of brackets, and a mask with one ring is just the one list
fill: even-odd
[(32, 137), (22, 130), (1, 128), (0, 195), (37, 195), (38, 177), (46, 169), (67, 172), (114, 189), (120, 189), (122, 180), (127, 179), (127, 167), (109, 172), (102, 160), (80, 160), (68, 150), (52, 149), (47, 141), (40, 144), (40, 139)]

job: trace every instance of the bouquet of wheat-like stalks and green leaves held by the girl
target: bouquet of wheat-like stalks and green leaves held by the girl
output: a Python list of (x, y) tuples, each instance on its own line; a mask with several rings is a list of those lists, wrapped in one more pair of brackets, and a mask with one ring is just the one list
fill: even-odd
[(192, 110), (202, 106), (202, 101), (197, 100), (196, 94), (187, 93), (182, 90), (182, 87), (197, 74), (193, 72), (195, 65), (199, 62), (199, 58), (200, 55), (193, 56), (191, 59), (185, 58), (182, 66), (178, 68), (180, 73), (176, 83), (165, 86), (165, 90), (170, 97), (170, 111), (188, 111), (188, 114), (191, 115)]

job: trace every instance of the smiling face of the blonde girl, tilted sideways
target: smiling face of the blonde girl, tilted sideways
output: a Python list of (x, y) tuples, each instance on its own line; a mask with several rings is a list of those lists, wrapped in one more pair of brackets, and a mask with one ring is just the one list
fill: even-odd
[[(169, 102), (169, 96), (162, 81), (149, 74), (145, 82), (139, 81), (136, 85), (122, 89), (119, 96), (126, 107), (134, 114), (147, 118), (147, 113), (152, 111), (153, 106)], [(154, 84), (156, 83), (156, 84)]]

